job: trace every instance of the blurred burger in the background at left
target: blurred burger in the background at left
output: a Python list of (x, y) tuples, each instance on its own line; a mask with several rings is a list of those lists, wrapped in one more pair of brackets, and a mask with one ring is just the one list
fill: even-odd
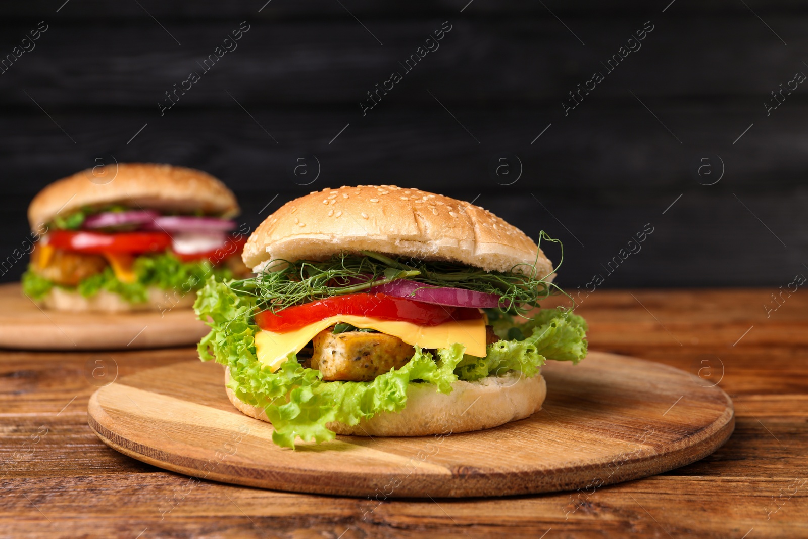
[[(61, 311), (190, 309), (209, 276), (249, 275), (233, 192), (202, 171), (120, 163), (45, 187), (28, 207), (36, 241), (23, 293)], [(242, 227), (243, 228), (243, 227)]]

